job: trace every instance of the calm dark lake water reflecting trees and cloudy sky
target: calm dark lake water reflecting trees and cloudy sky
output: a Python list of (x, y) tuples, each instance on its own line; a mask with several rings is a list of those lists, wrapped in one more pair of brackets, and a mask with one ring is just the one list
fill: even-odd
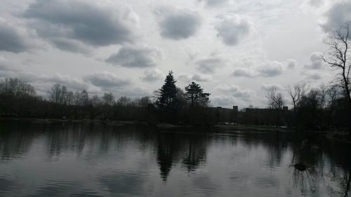
[(350, 175), (318, 135), (0, 123), (0, 196), (351, 196)]

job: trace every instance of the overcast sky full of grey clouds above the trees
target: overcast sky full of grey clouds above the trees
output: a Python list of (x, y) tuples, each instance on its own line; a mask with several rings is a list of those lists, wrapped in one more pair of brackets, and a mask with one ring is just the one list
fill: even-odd
[(333, 79), (318, 57), (350, 11), (333, 0), (2, 0), (0, 78), (41, 95), (60, 83), (140, 97), (173, 70), (213, 106), (265, 107), (270, 86)]

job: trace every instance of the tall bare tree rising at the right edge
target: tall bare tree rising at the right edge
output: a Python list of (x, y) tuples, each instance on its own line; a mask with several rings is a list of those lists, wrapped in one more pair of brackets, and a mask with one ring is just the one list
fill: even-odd
[(351, 69), (351, 54), (349, 44), (351, 40), (350, 32), (351, 22), (347, 22), (344, 26), (337, 29), (333, 36), (326, 42), (329, 45), (329, 50), (326, 54), (322, 55), (324, 62), (329, 64), (330, 67), (338, 69), (340, 86), (343, 88), (345, 97), (351, 107), (350, 95), (350, 69)]

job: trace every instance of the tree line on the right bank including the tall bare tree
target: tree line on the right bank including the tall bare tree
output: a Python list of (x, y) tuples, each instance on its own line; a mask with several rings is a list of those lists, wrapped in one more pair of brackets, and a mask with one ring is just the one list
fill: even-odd
[[(350, 130), (351, 133), (351, 22), (336, 29), (326, 40), (329, 49), (319, 58), (338, 74), (331, 83), (309, 88), (306, 83), (287, 86), (293, 104), (287, 123), (300, 130)], [(277, 88), (267, 90), (271, 109), (282, 109), (286, 100)]]

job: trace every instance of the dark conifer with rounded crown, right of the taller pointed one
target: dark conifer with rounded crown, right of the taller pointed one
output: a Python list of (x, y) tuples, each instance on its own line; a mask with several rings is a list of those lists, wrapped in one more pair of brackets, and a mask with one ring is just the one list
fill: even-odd
[(194, 81), (185, 87), (185, 100), (190, 107), (206, 107), (210, 93), (204, 93), (201, 86)]

